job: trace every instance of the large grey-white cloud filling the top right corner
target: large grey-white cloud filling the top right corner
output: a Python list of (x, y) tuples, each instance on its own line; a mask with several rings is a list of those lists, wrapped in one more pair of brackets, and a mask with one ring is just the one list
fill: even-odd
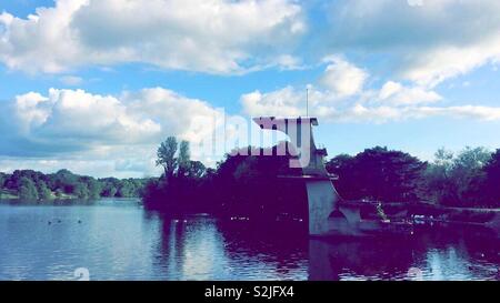
[(329, 52), (388, 55), (399, 75), (436, 85), (499, 61), (499, 14), (497, 0), (342, 0), (331, 4), (322, 41)]

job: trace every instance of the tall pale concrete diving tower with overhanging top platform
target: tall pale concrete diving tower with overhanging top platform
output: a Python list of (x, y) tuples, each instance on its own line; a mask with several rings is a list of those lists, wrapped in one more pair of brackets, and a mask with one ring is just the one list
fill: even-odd
[[(316, 118), (276, 118), (261, 117), (253, 121), (261, 129), (276, 130), (289, 138), (288, 152), (293, 155), (290, 168), (301, 168), (301, 179), (306, 182), (309, 208), (309, 234), (327, 235), (332, 230), (343, 226), (332, 226), (330, 220), (338, 210), (340, 200), (331, 182), (331, 176), (324, 166), (326, 149), (318, 149), (312, 137), (312, 127), (318, 125)], [(347, 226), (344, 226), (347, 228)]]

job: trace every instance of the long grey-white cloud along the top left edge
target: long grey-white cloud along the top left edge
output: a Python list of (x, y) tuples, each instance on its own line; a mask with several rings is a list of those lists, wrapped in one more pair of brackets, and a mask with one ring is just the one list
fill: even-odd
[(288, 0), (57, 0), (27, 18), (0, 14), (0, 61), (29, 72), (141, 62), (238, 73), (296, 65), (287, 50), (304, 31)]

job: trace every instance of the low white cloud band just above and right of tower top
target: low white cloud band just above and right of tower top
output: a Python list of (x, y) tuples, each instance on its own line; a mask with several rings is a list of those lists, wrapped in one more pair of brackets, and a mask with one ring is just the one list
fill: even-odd
[[(361, 71), (352, 63), (340, 61), (343, 68)], [(362, 72), (364, 82), (370, 75)], [(449, 117), (477, 119), (480, 121), (500, 121), (500, 108), (481, 105), (440, 107), (443, 98), (433, 90), (418, 84), (404, 85), (387, 81), (378, 89), (363, 90), (356, 85), (356, 94), (342, 94), (339, 90), (326, 88), (323, 79), (331, 75), (328, 65), (319, 82), (322, 88), (310, 84), (309, 112), (311, 115), (329, 122), (346, 123), (386, 123), (408, 119), (429, 117)], [(346, 83), (352, 79), (349, 72), (336, 74), (337, 83)], [(330, 78), (331, 79), (331, 78)], [(353, 92), (354, 90), (351, 90)], [(340, 99), (339, 99), (340, 97)], [(349, 98), (346, 98), (349, 97)], [(259, 115), (306, 115), (304, 89), (286, 87), (271, 92), (254, 91), (241, 95), (243, 112), (252, 117)], [(433, 104), (430, 107), (430, 104)]]

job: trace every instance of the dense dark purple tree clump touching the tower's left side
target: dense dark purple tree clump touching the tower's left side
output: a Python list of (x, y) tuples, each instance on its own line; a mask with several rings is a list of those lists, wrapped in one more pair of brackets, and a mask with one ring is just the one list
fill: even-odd
[(289, 156), (231, 154), (237, 155), (227, 155), (218, 163), (217, 172), (208, 170), (204, 176), (213, 210), (270, 220), (282, 213), (307, 218), (303, 182), (279, 178), (302, 174), (301, 169), (289, 166)]

